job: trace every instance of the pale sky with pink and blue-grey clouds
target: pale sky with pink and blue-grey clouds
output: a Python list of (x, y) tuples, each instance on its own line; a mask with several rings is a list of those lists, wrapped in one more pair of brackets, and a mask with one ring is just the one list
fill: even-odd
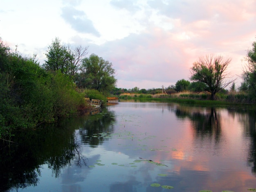
[(239, 76), (256, 41), (256, 0), (0, 0), (0, 38), (40, 65), (48, 46), (88, 46), (112, 63), (117, 87), (151, 89), (189, 80), (209, 54)]

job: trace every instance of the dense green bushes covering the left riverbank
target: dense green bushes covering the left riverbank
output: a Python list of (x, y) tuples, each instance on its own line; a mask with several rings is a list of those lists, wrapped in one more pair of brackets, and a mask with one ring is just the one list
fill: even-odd
[(70, 76), (48, 73), (35, 58), (11, 53), (0, 42), (0, 138), (13, 129), (34, 128), (44, 122), (75, 114), (85, 105)]

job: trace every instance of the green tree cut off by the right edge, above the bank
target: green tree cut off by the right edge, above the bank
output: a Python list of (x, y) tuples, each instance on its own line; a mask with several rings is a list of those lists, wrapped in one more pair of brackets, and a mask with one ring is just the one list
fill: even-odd
[[(256, 42), (252, 43), (252, 49), (247, 51), (247, 66), (243, 72), (243, 88), (247, 87), (249, 97), (256, 101)], [(242, 87), (241, 85), (241, 87)]]

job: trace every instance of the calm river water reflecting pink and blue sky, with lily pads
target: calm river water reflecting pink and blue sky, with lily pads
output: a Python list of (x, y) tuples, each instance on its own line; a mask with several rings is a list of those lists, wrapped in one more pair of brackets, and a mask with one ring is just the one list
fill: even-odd
[(0, 151), (0, 191), (256, 188), (252, 110), (119, 102), (99, 114), (16, 135), (15, 144)]

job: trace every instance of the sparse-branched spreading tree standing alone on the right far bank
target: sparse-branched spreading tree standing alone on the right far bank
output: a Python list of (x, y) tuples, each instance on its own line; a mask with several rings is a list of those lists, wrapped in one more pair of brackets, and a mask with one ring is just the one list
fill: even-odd
[(207, 86), (205, 90), (211, 93), (211, 100), (215, 100), (217, 92), (234, 82), (234, 80), (227, 81), (229, 73), (226, 70), (230, 62), (231, 58), (224, 59), (220, 55), (199, 58), (193, 63), (190, 79), (204, 83)]

